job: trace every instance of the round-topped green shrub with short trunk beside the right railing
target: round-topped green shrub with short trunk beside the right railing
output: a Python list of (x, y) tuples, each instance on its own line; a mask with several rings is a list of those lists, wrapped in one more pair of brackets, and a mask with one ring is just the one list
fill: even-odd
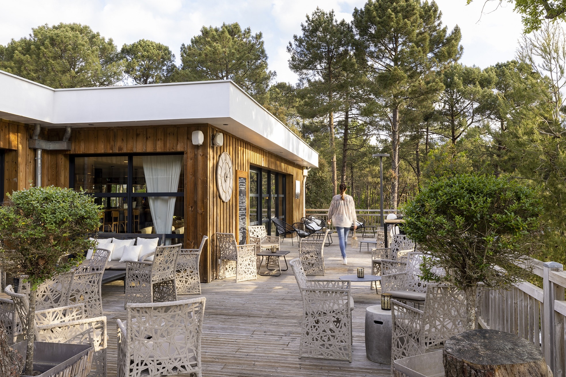
[[(541, 210), (538, 195), (516, 181), (473, 174), (432, 179), (404, 207), (405, 232), (429, 255), (424, 280), (465, 291), (468, 330), (475, 327), (478, 283), (506, 288), (526, 278), (516, 263), (525, 259), (525, 238), (537, 231)], [(432, 267), (447, 274), (435, 275)]]

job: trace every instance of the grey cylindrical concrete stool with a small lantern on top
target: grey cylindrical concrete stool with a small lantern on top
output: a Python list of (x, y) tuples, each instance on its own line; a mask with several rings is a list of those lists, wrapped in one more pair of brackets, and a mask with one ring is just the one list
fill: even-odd
[(366, 356), (391, 364), (391, 310), (381, 310), (381, 305), (366, 308)]

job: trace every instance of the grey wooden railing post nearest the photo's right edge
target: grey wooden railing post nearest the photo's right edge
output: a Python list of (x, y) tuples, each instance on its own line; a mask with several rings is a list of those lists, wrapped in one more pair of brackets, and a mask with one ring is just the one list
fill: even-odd
[[(550, 271), (562, 271), (563, 266), (558, 262), (543, 263), (543, 301), (542, 301), (542, 352), (544, 359), (553, 373), (556, 373), (555, 352), (559, 350), (555, 347), (555, 315), (554, 300), (564, 300), (564, 288), (555, 289), (554, 283), (548, 279)], [(559, 297), (559, 294), (562, 294)]]

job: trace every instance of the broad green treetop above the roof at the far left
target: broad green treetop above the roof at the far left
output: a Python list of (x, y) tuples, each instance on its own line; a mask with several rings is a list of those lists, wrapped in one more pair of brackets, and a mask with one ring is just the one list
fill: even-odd
[(52, 88), (108, 86), (122, 80), (116, 46), (87, 25), (47, 24), (0, 48), (0, 69)]

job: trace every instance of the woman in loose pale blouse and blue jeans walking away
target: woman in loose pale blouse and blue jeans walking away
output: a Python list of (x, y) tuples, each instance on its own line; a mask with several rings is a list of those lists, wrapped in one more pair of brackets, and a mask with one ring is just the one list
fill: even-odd
[(346, 259), (348, 232), (352, 224), (354, 224), (354, 229), (358, 227), (357, 220), (354, 198), (346, 195), (346, 184), (342, 182), (340, 184), (340, 195), (335, 195), (332, 198), (330, 208), (328, 209), (328, 225), (333, 222), (336, 232), (338, 232), (338, 243), (340, 244), (343, 265), (348, 265), (348, 259)]

